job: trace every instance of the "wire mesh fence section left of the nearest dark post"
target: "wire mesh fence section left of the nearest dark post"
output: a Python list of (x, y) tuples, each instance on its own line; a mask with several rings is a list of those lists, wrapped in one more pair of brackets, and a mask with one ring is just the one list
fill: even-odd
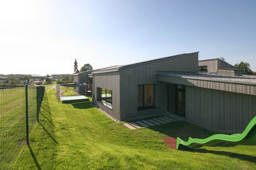
[(25, 144), (25, 86), (1, 85), (1, 168), (11, 167)]

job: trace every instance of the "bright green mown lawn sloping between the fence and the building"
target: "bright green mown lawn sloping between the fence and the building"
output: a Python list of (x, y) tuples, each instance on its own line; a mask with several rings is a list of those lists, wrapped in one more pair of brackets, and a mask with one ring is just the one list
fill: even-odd
[(13, 169), (256, 169), (256, 146), (169, 149), (162, 138), (213, 134), (182, 121), (128, 130), (90, 102), (61, 104), (47, 89), (40, 123)]

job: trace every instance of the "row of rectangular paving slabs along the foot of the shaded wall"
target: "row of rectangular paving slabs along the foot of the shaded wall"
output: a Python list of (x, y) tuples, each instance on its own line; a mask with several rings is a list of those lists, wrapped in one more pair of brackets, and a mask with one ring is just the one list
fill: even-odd
[(153, 127), (161, 124), (172, 123), (177, 121), (176, 119), (166, 115), (158, 118), (144, 119), (139, 121), (133, 121), (129, 123), (124, 123), (124, 127), (130, 130), (136, 130), (140, 127)]

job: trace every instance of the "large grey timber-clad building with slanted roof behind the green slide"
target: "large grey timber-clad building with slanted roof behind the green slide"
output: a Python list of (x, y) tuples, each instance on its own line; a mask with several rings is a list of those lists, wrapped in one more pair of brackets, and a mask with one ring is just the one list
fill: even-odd
[(244, 130), (256, 115), (256, 78), (199, 74), (198, 65), (194, 52), (94, 70), (93, 103), (121, 121), (170, 114), (211, 130)]

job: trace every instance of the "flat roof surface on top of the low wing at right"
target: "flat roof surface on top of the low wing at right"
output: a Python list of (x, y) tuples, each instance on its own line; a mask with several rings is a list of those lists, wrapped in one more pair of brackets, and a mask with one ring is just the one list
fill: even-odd
[(256, 76), (244, 75), (244, 76), (221, 76), (221, 75), (209, 75), (209, 74), (175, 74), (168, 72), (158, 72), (158, 75), (182, 77), (186, 79), (205, 80), (205, 81), (219, 81), (219, 82), (232, 82), (240, 84), (256, 85)]

